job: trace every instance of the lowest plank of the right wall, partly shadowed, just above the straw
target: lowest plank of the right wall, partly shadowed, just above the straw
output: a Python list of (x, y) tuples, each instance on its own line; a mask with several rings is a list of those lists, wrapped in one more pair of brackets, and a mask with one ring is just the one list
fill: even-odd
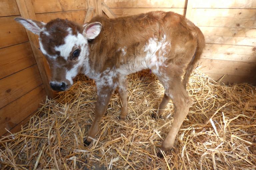
[(225, 75), (224, 74), (216, 74), (216, 73), (208, 73), (208, 75), (215, 81), (219, 80), (219, 82), (228, 84), (228, 83), (249, 83), (256, 85), (256, 79), (253, 77), (244, 77), (237, 75)]

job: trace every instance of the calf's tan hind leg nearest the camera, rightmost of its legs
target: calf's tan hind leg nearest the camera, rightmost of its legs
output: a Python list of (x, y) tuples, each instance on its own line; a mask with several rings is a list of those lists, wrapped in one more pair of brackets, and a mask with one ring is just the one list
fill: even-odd
[(189, 107), (192, 104), (192, 100), (186, 92), (180, 79), (173, 79), (172, 81), (168, 82), (167, 87), (169, 88), (165, 89), (165, 93), (172, 98), (175, 111), (170, 131), (160, 147), (160, 149), (165, 152), (173, 147), (176, 135), (188, 114)]

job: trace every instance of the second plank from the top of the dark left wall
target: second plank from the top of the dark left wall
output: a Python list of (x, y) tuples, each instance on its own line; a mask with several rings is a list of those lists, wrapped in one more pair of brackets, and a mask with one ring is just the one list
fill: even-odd
[(25, 28), (14, 21), (15, 17), (0, 17), (0, 48), (28, 41)]

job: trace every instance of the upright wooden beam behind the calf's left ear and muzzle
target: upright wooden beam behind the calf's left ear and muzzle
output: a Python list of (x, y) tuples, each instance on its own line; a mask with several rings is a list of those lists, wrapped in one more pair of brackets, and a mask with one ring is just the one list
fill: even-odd
[[(33, 9), (31, 0), (16, 0), (21, 17), (31, 20), (36, 20), (36, 15)], [(44, 57), (44, 55), (39, 50), (38, 38), (36, 35), (26, 30), (28, 39), (35, 56), (35, 60), (45, 87), (47, 96), (54, 98), (54, 93), (50, 88), (49, 76), (47, 75), (47, 70), (49, 71), (49, 65)]]

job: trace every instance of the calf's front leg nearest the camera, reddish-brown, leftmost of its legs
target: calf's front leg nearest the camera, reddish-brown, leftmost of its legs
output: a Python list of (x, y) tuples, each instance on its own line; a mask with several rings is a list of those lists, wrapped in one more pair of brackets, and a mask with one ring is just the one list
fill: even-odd
[[(97, 82), (96, 82), (97, 85)], [(110, 98), (112, 96), (112, 93), (114, 91), (113, 87), (104, 86), (104, 87), (98, 87), (97, 86), (97, 102), (95, 105), (95, 118), (93, 120), (93, 124), (89, 129), (88, 137), (86, 140), (84, 140), (85, 145), (89, 145), (92, 142), (92, 139), (97, 134), (99, 130), (99, 122), (101, 121), (101, 118), (104, 116), (107, 110), (107, 106), (109, 104)]]

